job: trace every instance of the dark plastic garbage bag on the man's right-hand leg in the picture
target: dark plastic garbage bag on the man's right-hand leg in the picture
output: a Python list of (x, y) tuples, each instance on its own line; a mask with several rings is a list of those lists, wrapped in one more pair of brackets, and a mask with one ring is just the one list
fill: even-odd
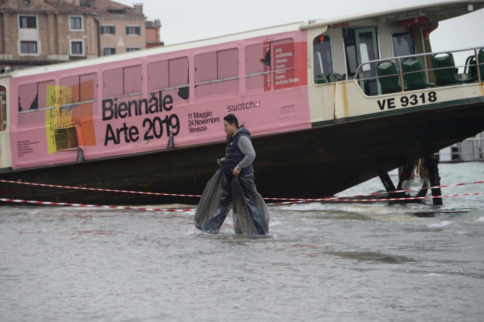
[(269, 210), (247, 177), (232, 180), (233, 228), (236, 233), (262, 235), (269, 232)]

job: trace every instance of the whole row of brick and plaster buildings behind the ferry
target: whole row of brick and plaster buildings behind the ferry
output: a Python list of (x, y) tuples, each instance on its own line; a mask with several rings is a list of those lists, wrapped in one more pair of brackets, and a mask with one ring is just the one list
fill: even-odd
[(0, 64), (17, 69), (160, 46), (160, 26), (146, 22), (141, 4), (0, 0)]

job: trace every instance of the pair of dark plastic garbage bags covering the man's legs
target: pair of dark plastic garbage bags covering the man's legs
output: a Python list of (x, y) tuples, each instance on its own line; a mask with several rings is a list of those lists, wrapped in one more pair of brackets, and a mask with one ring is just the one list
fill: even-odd
[(236, 233), (257, 235), (269, 231), (269, 210), (254, 182), (249, 178), (234, 177), (229, 184), (223, 175), (223, 167), (205, 186), (195, 213), (195, 226), (203, 231), (218, 231), (231, 205)]

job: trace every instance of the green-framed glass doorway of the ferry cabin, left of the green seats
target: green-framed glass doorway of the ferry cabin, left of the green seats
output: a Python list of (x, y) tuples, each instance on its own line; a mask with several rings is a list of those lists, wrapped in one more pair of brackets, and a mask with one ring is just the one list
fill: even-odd
[[(377, 28), (348, 28), (343, 35), (346, 51), (346, 67), (348, 78), (354, 78), (356, 69), (361, 63), (378, 59)], [(377, 95), (379, 92), (376, 79), (377, 71), (374, 64), (362, 66), (358, 78), (361, 89), (367, 95)], [(375, 78), (372, 78), (375, 77)]]

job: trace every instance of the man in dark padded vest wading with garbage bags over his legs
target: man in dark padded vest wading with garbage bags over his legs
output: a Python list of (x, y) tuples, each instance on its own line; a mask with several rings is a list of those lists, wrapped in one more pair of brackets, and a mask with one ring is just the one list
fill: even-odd
[[(269, 230), (269, 212), (254, 183), (252, 163), (256, 152), (251, 133), (244, 126), (238, 126), (237, 117), (233, 114), (228, 114), (223, 120), (223, 129), (227, 134), (225, 157), (217, 160), (222, 168), (205, 188), (195, 215), (195, 226), (204, 231), (218, 231), (233, 202), (235, 232), (265, 234)], [(207, 204), (213, 204), (217, 197), (218, 204)]]

